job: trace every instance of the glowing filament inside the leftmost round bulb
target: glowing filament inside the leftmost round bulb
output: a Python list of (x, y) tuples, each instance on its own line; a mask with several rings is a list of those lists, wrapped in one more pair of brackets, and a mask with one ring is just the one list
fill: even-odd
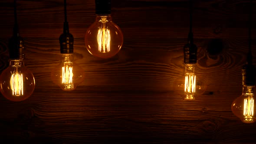
[(13, 72), (10, 79), (10, 86), (13, 91), (13, 95), (23, 95), (23, 75), (19, 72)]

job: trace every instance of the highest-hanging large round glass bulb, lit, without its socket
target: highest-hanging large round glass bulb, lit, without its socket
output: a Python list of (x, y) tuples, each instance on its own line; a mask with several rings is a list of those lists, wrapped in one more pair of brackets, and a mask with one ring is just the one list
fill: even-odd
[(115, 56), (124, 42), (121, 29), (112, 22), (111, 16), (96, 16), (95, 22), (85, 33), (85, 46), (93, 55), (100, 58)]

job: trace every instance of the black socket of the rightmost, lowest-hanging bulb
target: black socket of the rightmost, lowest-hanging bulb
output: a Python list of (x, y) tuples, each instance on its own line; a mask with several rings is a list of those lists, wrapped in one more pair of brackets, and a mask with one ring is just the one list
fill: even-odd
[(255, 85), (255, 72), (254, 65), (244, 65), (242, 69), (242, 85)]

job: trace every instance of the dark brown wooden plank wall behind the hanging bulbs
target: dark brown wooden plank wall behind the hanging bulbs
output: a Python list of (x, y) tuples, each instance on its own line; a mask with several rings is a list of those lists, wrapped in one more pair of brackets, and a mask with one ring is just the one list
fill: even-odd
[[(198, 75), (207, 90), (196, 101), (183, 101), (172, 84), (183, 72), (187, 0), (112, 0), (112, 20), (124, 34), (124, 45), (110, 59), (92, 56), (84, 45), (95, 20), (94, 0), (68, 0), (75, 62), (85, 71), (85, 80), (72, 92), (63, 92), (50, 79), (60, 59), (62, 0), (18, 0), (26, 66), (36, 88), (20, 102), (0, 95), (0, 143), (256, 143), (256, 124), (243, 124), (231, 111), (242, 91), (249, 0), (193, 1)], [(13, 19), (13, 0), (1, 0), (0, 72), (8, 65)], [(255, 25), (253, 6), (254, 64)]]

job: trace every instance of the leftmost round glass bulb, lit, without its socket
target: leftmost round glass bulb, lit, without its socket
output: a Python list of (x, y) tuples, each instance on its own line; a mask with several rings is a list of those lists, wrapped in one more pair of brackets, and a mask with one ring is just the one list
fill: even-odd
[(23, 101), (32, 95), (35, 79), (20, 59), (10, 60), (10, 65), (0, 75), (0, 91), (10, 101)]

